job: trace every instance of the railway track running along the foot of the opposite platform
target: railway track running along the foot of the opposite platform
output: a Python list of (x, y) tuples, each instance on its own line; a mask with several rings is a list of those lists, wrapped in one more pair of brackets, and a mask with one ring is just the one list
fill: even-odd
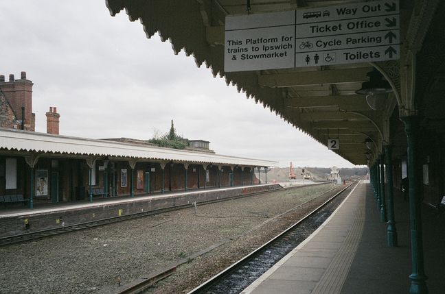
[[(312, 184), (312, 185), (290, 186), (290, 187), (285, 187), (285, 188), (276, 189), (276, 190), (272, 190), (272, 191), (262, 191), (262, 192), (258, 192), (258, 193), (250, 193), (247, 195), (238, 195), (238, 196), (234, 196), (234, 197), (227, 197), (225, 199), (214, 199), (214, 200), (209, 200), (209, 201), (201, 201), (201, 202), (196, 203), (196, 206), (212, 204), (212, 203), (216, 203), (216, 202), (220, 202), (220, 201), (228, 201), (228, 200), (238, 199), (238, 198), (242, 198), (242, 197), (251, 197), (251, 196), (255, 196), (255, 195), (262, 195), (265, 193), (277, 193), (277, 192), (289, 190), (289, 189), (303, 188), (306, 186), (315, 186), (315, 185), (328, 184), (328, 183), (329, 182), (321, 182), (319, 184)], [(180, 210), (183, 208), (190, 208), (192, 206), (194, 206), (194, 204), (172, 206), (172, 207), (161, 208), (161, 209), (157, 209), (157, 210), (149, 210), (146, 212), (138, 212), (138, 213), (134, 213), (131, 215), (122, 215), (120, 217), (111, 217), (108, 219), (100, 219), (97, 221), (88, 221), (88, 222), (84, 222), (84, 223), (77, 223), (77, 224), (73, 224), (73, 225), (67, 225), (62, 228), (39, 230), (36, 232), (29, 232), (29, 233), (25, 233), (25, 234), (14, 235), (14, 236), (1, 237), (0, 238), (0, 247), (6, 246), (6, 245), (17, 244), (17, 243), (25, 243), (25, 242), (35, 241), (35, 240), (38, 240), (41, 238), (56, 236), (58, 234), (66, 234), (66, 233), (75, 232), (78, 230), (85, 230), (85, 229), (89, 229), (89, 228), (100, 227), (102, 225), (109, 225), (111, 223), (117, 223), (119, 221), (127, 221), (130, 219), (137, 219), (140, 217), (149, 217), (152, 215), (159, 215), (164, 212), (171, 212), (171, 211)]]

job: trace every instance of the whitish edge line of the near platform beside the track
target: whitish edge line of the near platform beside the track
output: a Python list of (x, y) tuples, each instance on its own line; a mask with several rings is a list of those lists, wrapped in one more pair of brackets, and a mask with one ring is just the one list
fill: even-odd
[(339, 212), (340, 208), (343, 206), (343, 204), (345, 204), (345, 202), (347, 201), (347, 199), (352, 195), (352, 193), (354, 193), (355, 189), (358, 187), (359, 184), (362, 184), (362, 180), (360, 182), (358, 182), (357, 186), (355, 186), (352, 191), (346, 196), (345, 200), (343, 200), (343, 202), (341, 202), (341, 204), (339, 205), (339, 207), (336, 208), (336, 210), (334, 210), (334, 212), (332, 212), (332, 214), (330, 215), (330, 217), (328, 217), (328, 219), (326, 219), (326, 221), (324, 221), (317, 230), (315, 230), (312, 234), (310, 234), (310, 236), (308, 236), (308, 238), (306, 238), (303, 242), (299, 243), (299, 245), (297, 247), (295, 247), (291, 252), (289, 252), (286, 256), (284, 256), (284, 258), (280, 259), (277, 263), (275, 263), (275, 265), (273, 265), (273, 267), (271, 267), (268, 271), (266, 271), (265, 273), (263, 273), (260, 278), (258, 278), (257, 280), (255, 280), (252, 284), (250, 284), (249, 286), (247, 286), (246, 289), (244, 289), (240, 294), (249, 294), (251, 293), (253, 290), (255, 290), (258, 286), (260, 286), (260, 284), (262, 282), (264, 282), (264, 280), (267, 280), (267, 278), (269, 278), (270, 275), (272, 275), (272, 273), (274, 273), (277, 269), (279, 269), (279, 267), (281, 267), (284, 262), (286, 262), (287, 260), (289, 260), (289, 258), (293, 257), (294, 254), (296, 254), (299, 249), (303, 248), (304, 245), (306, 245), (306, 243), (308, 243), (312, 238), (314, 238), (315, 236), (317, 236), (318, 232), (320, 232), (328, 223), (329, 221), (332, 219), (332, 217), (334, 217), (334, 215), (336, 215), (337, 212)]

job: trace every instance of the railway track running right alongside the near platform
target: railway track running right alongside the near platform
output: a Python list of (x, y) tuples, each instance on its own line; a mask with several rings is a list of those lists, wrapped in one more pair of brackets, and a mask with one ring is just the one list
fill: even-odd
[(358, 182), (354, 182), (310, 212), (290, 228), (275, 236), (188, 294), (240, 293), (275, 263), (304, 241), (326, 221)]

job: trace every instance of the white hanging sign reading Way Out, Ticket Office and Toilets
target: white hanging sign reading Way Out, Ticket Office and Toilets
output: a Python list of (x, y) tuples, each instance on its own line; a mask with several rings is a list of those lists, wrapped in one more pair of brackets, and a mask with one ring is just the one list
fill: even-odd
[(396, 60), (398, 1), (227, 16), (225, 71)]

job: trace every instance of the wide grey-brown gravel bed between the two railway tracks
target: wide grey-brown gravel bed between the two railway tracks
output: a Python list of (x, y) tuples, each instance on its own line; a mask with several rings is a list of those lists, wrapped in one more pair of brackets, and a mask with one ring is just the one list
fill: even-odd
[(187, 208), (0, 247), (0, 293), (111, 293), (219, 245), (147, 291), (186, 293), (295, 223), (334, 188), (294, 188), (198, 206), (196, 215)]

